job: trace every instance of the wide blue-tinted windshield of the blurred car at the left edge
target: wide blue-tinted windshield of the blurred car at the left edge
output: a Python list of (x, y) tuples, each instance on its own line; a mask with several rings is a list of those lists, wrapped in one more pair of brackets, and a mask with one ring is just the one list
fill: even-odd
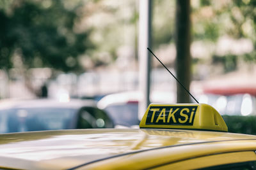
[(0, 110), (0, 133), (68, 129), (75, 111), (63, 108)]

